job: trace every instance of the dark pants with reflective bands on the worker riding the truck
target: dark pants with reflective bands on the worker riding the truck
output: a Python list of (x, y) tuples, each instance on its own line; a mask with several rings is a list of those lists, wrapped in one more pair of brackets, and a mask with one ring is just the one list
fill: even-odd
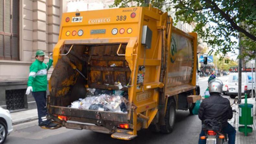
[(43, 92), (32, 92), (36, 103), (37, 103), (37, 113), (38, 113), (38, 124), (39, 126), (48, 125), (50, 121), (46, 118), (46, 91)]

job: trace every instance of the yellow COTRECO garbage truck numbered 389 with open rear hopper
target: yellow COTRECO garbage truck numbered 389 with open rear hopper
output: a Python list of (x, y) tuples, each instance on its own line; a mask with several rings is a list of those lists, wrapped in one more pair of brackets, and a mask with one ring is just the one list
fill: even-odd
[[(53, 67), (48, 118), (117, 139), (142, 128), (171, 133), (176, 110), (191, 112), (187, 97), (200, 93), (197, 34), (151, 6), (63, 13)], [(127, 112), (69, 107), (90, 88), (126, 92)]]

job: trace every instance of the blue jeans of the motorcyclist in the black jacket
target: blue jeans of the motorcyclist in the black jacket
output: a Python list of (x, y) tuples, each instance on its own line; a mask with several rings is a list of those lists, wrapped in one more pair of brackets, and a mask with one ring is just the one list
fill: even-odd
[[(222, 128), (223, 133), (228, 134), (228, 144), (235, 144), (236, 139), (236, 129), (232, 127), (229, 123), (226, 127)], [(206, 144), (206, 139), (200, 139), (201, 136), (205, 136), (205, 132), (202, 130), (199, 135), (198, 144)]]

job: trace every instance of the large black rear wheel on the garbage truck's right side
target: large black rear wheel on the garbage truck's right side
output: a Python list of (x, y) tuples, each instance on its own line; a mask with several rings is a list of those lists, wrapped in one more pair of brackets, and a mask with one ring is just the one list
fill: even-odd
[(162, 133), (171, 133), (174, 128), (176, 110), (175, 102), (173, 99), (168, 100), (166, 114), (164, 116), (165, 125), (160, 126)]

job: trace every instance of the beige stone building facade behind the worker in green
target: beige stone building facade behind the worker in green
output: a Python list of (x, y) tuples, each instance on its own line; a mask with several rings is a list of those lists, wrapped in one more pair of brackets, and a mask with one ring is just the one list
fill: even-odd
[[(45, 52), (44, 62), (49, 61), (49, 53), (58, 42), (66, 3), (65, 0), (0, 0), (1, 107), (12, 111), (36, 107), (33, 96), (25, 95), (29, 66), (35, 61), (37, 50)], [(48, 79), (51, 72), (52, 68)]]

